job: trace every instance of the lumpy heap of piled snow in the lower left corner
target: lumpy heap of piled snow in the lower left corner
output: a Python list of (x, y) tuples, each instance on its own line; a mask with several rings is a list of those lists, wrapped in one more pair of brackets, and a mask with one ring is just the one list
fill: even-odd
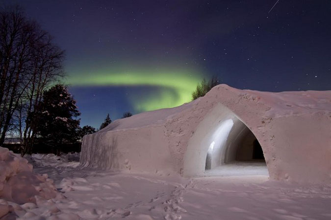
[(58, 195), (47, 175), (32, 173), (32, 165), (7, 148), (0, 147), (0, 218), (25, 214), (36, 207), (36, 198), (50, 199)]

